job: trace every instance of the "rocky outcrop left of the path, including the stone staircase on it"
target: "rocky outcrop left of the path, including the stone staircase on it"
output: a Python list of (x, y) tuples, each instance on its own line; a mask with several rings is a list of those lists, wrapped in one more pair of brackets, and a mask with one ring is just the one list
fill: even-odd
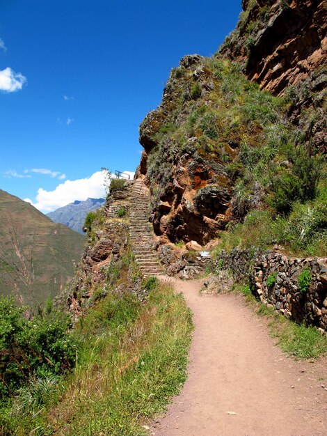
[(110, 189), (88, 229), (88, 243), (74, 279), (56, 300), (77, 320), (107, 293), (135, 293), (143, 301), (145, 277), (163, 272), (148, 222), (148, 189), (128, 180)]

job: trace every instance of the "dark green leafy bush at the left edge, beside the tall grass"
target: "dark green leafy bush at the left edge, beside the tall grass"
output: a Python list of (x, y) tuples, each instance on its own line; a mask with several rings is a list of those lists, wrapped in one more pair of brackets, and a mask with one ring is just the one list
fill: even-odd
[(31, 377), (64, 373), (75, 361), (67, 316), (51, 311), (27, 320), (23, 313), (13, 299), (0, 299), (0, 400)]

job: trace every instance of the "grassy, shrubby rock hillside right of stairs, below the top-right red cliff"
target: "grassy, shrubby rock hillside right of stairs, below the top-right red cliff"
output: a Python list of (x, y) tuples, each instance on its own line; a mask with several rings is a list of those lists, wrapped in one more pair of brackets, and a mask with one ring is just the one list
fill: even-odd
[(250, 212), (239, 235), (254, 221), (269, 228), (252, 244), (323, 255), (326, 164), (289, 122), (291, 100), (261, 91), (237, 63), (185, 56), (140, 128), (156, 233), (203, 244)]

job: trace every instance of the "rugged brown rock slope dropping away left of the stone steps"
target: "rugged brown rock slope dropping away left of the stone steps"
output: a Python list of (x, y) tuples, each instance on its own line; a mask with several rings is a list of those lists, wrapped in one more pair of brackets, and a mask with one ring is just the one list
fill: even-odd
[[(130, 194), (131, 186), (127, 184), (124, 189), (113, 192), (104, 207), (97, 210), (74, 279), (56, 301), (57, 305), (68, 309), (75, 320), (93, 300), (106, 295), (115, 271), (122, 268), (121, 260), (129, 246), (126, 214)], [(123, 217), (120, 216), (122, 210), (125, 211)]]

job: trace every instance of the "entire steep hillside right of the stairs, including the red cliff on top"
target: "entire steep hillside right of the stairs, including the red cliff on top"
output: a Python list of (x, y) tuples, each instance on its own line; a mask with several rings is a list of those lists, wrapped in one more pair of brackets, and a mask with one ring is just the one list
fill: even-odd
[[(320, 3), (260, 0), (243, 6), (236, 31), (220, 51), (211, 59), (184, 56), (170, 74), (160, 106), (141, 124), (144, 151), (136, 177), (151, 189), (151, 219), (161, 245), (206, 244), (230, 224), (243, 222), (251, 210), (262, 213), (261, 224), (270, 220), (270, 228), (278, 217), (286, 217), (278, 221), (277, 233), (289, 243), (310, 234), (309, 241), (319, 232), (326, 241)], [(289, 32), (284, 33), (280, 29), (287, 23)], [(249, 35), (253, 42), (246, 45)], [(282, 52), (284, 66), (274, 76), (264, 76), (263, 65), (269, 59), (277, 62), (276, 50), (280, 53), (286, 40), (294, 53)], [(300, 56), (296, 47), (304, 42)], [(306, 224), (299, 222), (301, 217)], [(255, 221), (257, 226), (257, 216)], [(273, 231), (269, 238), (265, 244), (278, 240)], [(319, 254), (322, 240), (308, 251)]]

